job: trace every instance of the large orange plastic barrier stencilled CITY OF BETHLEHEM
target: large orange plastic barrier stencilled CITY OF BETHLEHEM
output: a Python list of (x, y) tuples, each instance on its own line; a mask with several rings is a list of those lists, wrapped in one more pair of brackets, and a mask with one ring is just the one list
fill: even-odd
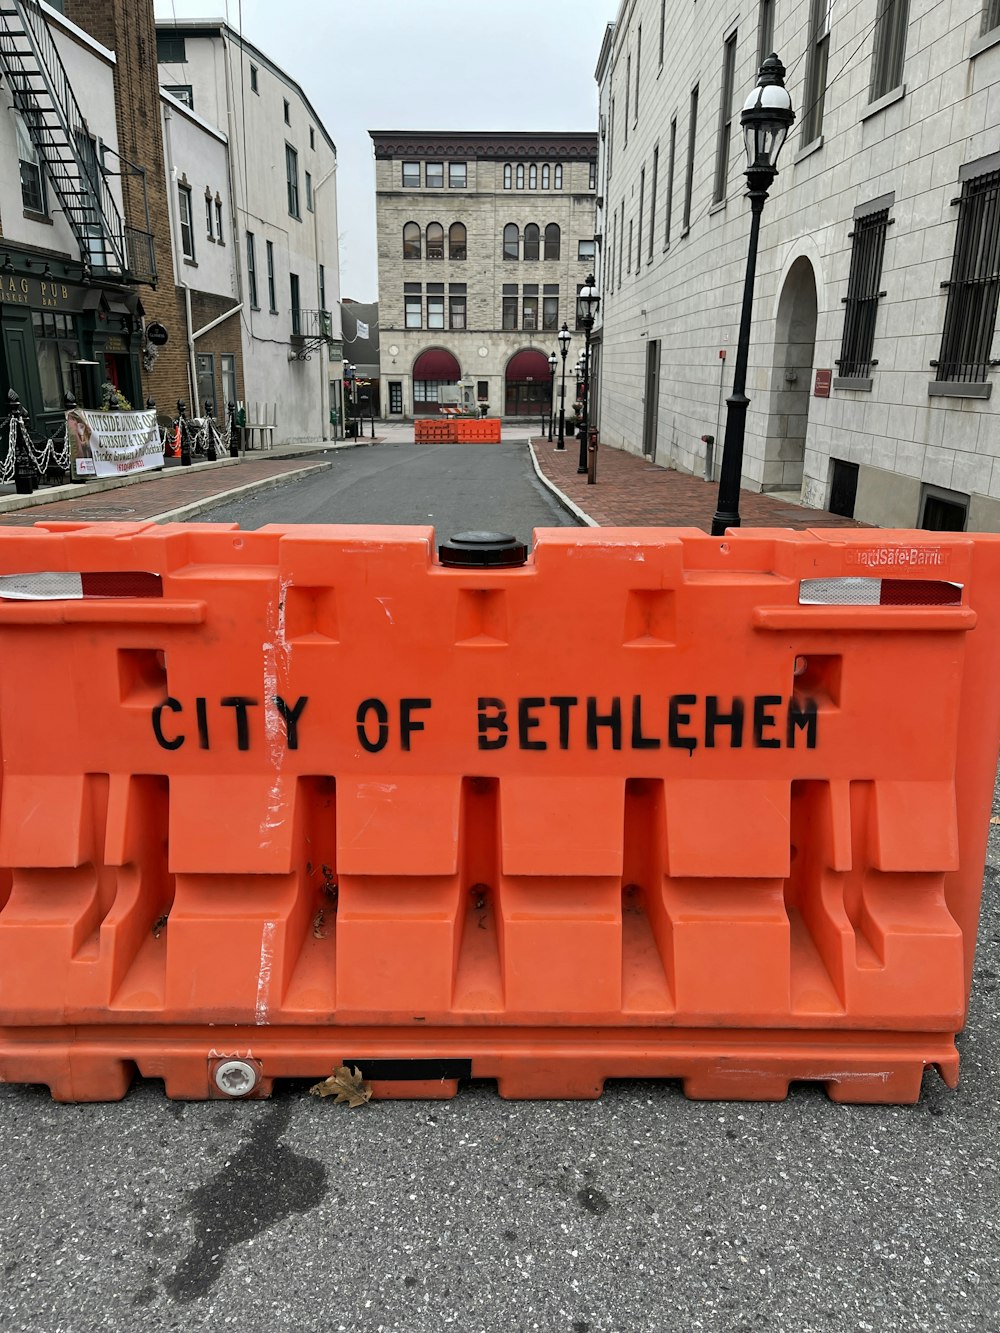
[(0, 1078), (955, 1084), (1000, 539), (536, 537), (0, 529)]

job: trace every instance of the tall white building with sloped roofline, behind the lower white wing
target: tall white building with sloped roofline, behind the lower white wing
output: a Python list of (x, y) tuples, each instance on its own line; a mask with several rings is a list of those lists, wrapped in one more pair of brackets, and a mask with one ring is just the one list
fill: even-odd
[[(279, 443), (328, 439), (341, 367), (336, 145), (299, 84), (228, 24), (156, 33), (161, 88), (229, 141), (244, 397), (277, 405)], [(208, 241), (207, 196), (200, 180), (189, 188), (193, 235)], [(181, 269), (191, 263), (181, 244)]]

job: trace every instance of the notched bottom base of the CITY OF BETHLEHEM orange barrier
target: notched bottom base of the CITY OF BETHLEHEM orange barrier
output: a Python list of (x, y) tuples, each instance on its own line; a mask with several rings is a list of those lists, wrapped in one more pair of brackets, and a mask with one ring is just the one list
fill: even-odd
[[(220, 1061), (252, 1065), (251, 1098), (276, 1078), (325, 1078), (357, 1065), (375, 1097), (453, 1097), (457, 1077), (495, 1080), (505, 1098), (593, 1100), (609, 1078), (679, 1080), (709, 1101), (783, 1101), (791, 1082), (821, 1084), (832, 1101), (911, 1104), (924, 1070), (959, 1081), (948, 1033), (697, 1029), (468, 1029), (387, 1032), (372, 1028), (73, 1026), (0, 1028), (0, 1082), (44, 1084), (56, 1101), (119, 1101), (133, 1078), (161, 1078), (169, 1098), (231, 1100), (213, 1077)], [(377, 1077), (391, 1061), (393, 1077)], [(412, 1065), (412, 1077), (407, 1073)], [(365, 1068), (368, 1065), (368, 1069)], [(375, 1076), (375, 1077), (373, 1077)]]

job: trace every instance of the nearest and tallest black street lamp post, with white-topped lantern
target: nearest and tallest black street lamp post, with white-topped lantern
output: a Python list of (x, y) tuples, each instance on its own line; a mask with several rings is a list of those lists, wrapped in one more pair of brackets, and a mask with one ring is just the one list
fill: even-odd
[(777, 176), (777, 155), (792, 128), (795, 112), (784, 84), (785, 67), (772, 52), (760, 67), (757, 87), (743, 107), (740, 124), (747, 145), (747, 197), (751, 201), (751, 235), (747, 251), (747, 276), (743, 284), (740, 340), (736, 349), (732, 393), (725, 400), (725, 441), (719, 476), (719, 508), (712, 516), (712, 536), (721, 537), (727, 528), (740, 527), (740, 477), (743, 476), (743, 441), (747, 433), (747, 361), (753, 313), (753, 280), (757, 269), (757, 237), (764, 200)]

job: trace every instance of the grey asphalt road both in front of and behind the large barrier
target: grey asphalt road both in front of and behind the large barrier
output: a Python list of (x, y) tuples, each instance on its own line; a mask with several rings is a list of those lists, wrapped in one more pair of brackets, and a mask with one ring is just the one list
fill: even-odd
[[(488, 485), (447, 447), (413, 455), (356, 451), (328, 488), (309, 479), (213, 517), (395, 515), (521, 536), (563, 521), (517, 483), (516, 448), (491, 451)], [(639, 1082), (596, 1102), (473, 1085), (357, 1110), (308, 1085), (179, 1104), (140, 1082), (80, 1106), (0, 1088), (0, 1329), (993, 1330), (999, 889), (1000, 824), (961, 1085), (928, 1074), (909, 1108), (808, 1086), (781, 1104), (689, 1102)]]

